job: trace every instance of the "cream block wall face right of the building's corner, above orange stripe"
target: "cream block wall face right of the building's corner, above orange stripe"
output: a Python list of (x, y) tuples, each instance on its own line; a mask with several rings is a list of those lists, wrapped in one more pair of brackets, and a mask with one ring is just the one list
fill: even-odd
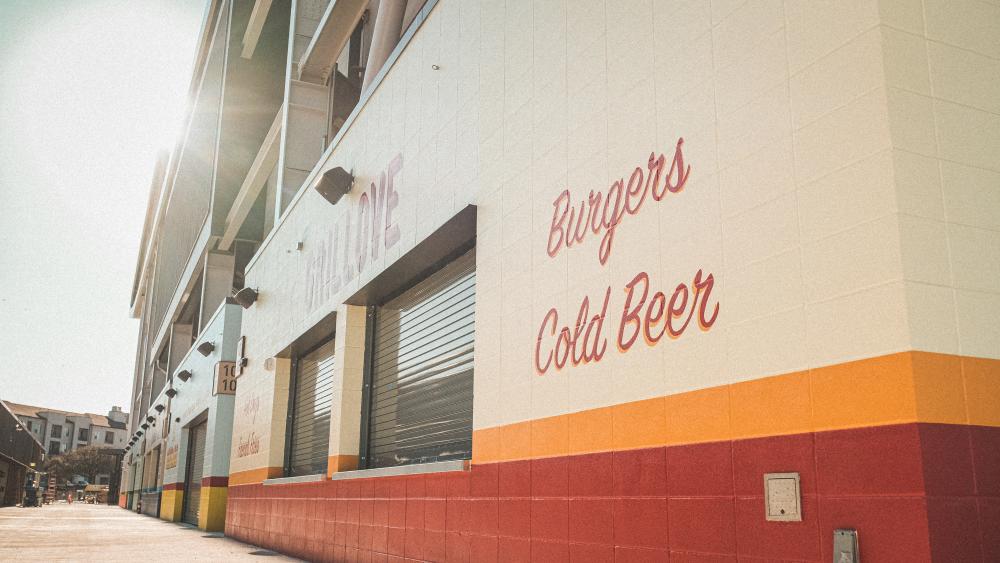
[(914, 349), (1000, 357), (1000, 5), (883, 2)]

